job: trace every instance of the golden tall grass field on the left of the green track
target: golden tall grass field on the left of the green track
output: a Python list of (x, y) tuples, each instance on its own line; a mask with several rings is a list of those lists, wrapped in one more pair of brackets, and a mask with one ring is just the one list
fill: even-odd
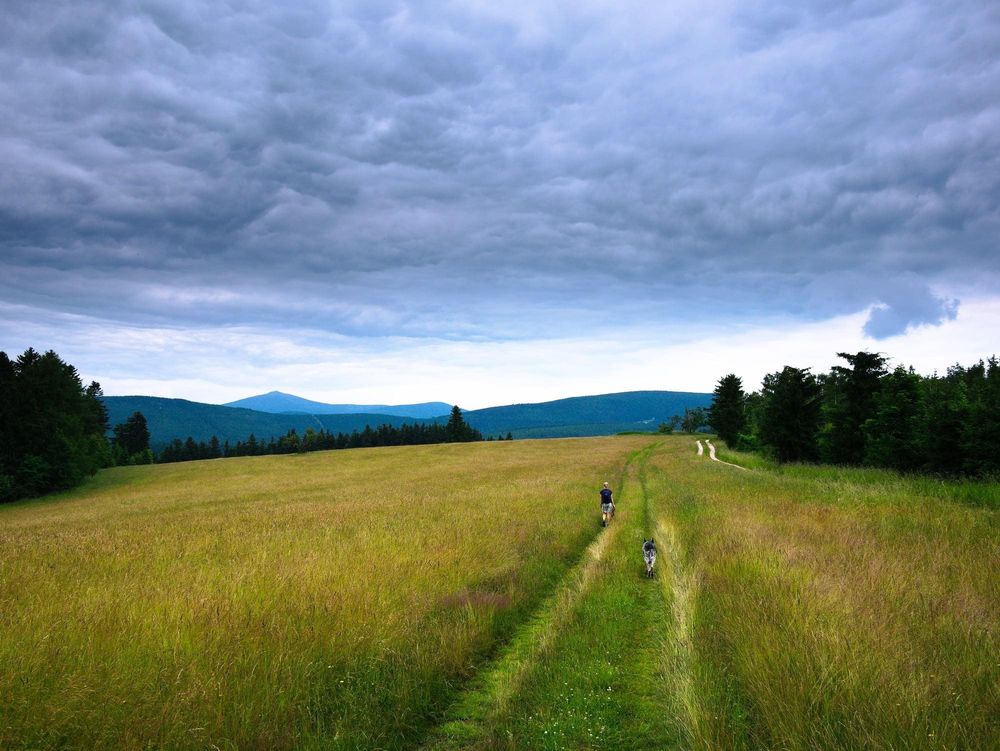
[(0, 508), (0, 747), (412, 745), (640, 444), (120, 468)]

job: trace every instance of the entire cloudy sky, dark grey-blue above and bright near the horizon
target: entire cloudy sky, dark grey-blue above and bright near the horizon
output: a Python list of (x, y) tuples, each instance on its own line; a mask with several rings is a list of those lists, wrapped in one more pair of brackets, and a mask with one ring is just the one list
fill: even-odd
[(473, 408), (1000, 353), (993, 0), (6, 0), (0, 349)]

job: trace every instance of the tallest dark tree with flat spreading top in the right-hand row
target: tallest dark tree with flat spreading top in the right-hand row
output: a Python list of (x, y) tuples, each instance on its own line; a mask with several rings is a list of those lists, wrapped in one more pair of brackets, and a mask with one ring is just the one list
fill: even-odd
[(835, 365), (821, 378), (824, 425), (820, 452), (823, 460), (832, 464), (860, 464), (865, 459), (862, 426), (875, 413), (886, 358), (875, 352), (838, 352), (837, 357), (851, 367)]

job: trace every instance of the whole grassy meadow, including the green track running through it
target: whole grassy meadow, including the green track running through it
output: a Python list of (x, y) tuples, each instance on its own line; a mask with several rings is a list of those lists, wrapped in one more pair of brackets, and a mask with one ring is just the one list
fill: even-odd
[(996, 748), (1000, 486), (719, 456), (748, 469), (649, 435), (227, 459), (0, 507), (0, 748)]

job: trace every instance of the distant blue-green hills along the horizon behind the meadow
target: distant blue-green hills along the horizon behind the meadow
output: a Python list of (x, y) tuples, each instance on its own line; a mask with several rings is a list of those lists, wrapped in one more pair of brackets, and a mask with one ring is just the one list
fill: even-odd
[[(363, 409), (364, 405), (330, 405), (309, 402), (290, 394), (272, 392), (253, 399), (267, 399), (271, 409), (317, 404), (321, 407)], [(588, 435), (612, 435), (627, 430), (656, 430), (672, 415), (684, 414), (685, 408), (707, 407), (711, 394), (686, 391), (626, 391), (618, 394), (577, 396), (536, 404), (511, 404), (504, 407), (469, 410), (466, 421), (484, 435), (512, 433), (515, 438), (564, 438)], [(174, 438), (188, 436), (195, 441), (208, 441), (214, 435), (220, 441), (246, 440), (253, 433), (258, 440), (282, 436), (291, 428), (299, 433), (306, 429), (325, 429), (333, 433), (363, 430), (365, 425), (401, 425), (413, 422), (444, 422), (451, 407), (429, 417), (399, 414), (342, 412), (307, 413), (294, 409), (281, 412), (246, 409), (230, 405), (203, 404), (185, 399), (164, 399), (156, 396), (106, 396), (104, 403), (112, 425), (125, 422), (133, 412), (142, 412), (149, 425), (150, 443), (155, 450)], [(431, 402), (442, 404), (441, 402)], [(402, 405), (400, 409), (419, 409), (428, 405)], [(370, 408), (370, 407), (369, 407)], [(434, 409), (437, 409), (436, 407)]]

